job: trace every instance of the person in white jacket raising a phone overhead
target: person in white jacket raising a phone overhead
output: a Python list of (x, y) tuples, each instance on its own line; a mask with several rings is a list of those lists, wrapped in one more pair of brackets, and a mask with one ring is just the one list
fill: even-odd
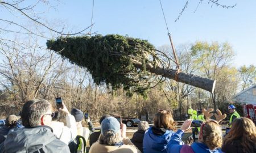
[(51, 128), (53, 130), (53, 134), (60, 139), (60, 141), (63, 141), (68, 145), (73, 139), (76, 138), (77, 135), (77, 127), (76, 127), (76, 120), (75, 117), (72, 116), (69, 112), (67, 107), (63, 104), (63, 109), (59, 108), (59, 111), (63, 112), (66, 114), (66, 121), (67, 121), (67, 126), (64, 126), (63, 122), (58, 122), (60, 118), (60, 112), (57, 111), (55, 113), (55, 117), (52, 118), (51, 122)]

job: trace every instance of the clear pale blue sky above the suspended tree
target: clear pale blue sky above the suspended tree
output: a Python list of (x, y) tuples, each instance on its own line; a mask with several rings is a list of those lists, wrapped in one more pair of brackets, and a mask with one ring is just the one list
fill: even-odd
[[(50, 1), (55, 9), (49, 9), (44, 18), (63, 20), (73, 31), (82, 29), (90, 25), (92, 2)], [(256, 1), (220, 0), (224, 5), (237, 4), (228, 9), (208, 4), (206, 0), (197, 8), (199, 0), (188, 1), (188, 7), (175, 22), (185, 2), (162, 0), (176, 46), (198, 40), (228, 41), (236, 53), (233, 66), (256, 65)], [(46, 7), (39, 6), (38, 9)], [(94, 0), (93, 23), (92, 32), (98, 34), (127, 34), (146, 39), (155, 46), (170, 44), (159, 0)]]

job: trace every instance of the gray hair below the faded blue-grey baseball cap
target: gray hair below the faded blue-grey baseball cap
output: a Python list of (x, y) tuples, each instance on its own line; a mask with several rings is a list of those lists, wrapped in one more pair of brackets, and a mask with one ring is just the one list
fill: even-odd
[(101, 133), (100, 137), (98, 138), (101, 144), (113, 146), (115, 143), (122, 142), (121, 133), (118, 131), (114, 133), (114, 131), (109, 130), (106, 131), (104, 134)]

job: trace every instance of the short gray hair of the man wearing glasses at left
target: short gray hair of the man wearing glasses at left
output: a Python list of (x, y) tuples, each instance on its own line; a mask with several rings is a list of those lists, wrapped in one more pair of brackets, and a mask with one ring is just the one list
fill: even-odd
[(27, 101), (22, 107), (22, 124), (25, 128), (40, 125), (41, 117), (51, 109), (51, 104), (44, 99)]

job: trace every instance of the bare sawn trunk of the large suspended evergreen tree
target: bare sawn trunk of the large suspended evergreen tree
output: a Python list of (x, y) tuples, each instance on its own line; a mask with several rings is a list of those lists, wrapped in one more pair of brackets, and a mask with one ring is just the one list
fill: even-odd
[[(133, 62), (134, 62), (135, 67), (137, 67), (138, 69), (143, 69), (143, 65), (141, 62), (138, 62), (135, 60), (133, 60)], [(154, 67), (151, 64), (146, 64), (146, 70), (150, 71), (151, 73), (154, 73), (157, 75), (162, 75), (166, 78), (175, 80), (176, 70)], [(199, 88), (201, 88), (203, 90), (207, 90), (211, 93), (213, 93), (213, 91), (214, 91), (214, 87), (215, 87), (215, 83), (216, 83), (215, 80), (211, 80), (208, 78), (202, 78), (200, 76), (186, 74), (186, 73), (182, 73), (182, 72), (180, 72), (177, 76), (178, 76), (177, 77), (178, 82), (189, 84), (194, 87), (199, 87)]]

